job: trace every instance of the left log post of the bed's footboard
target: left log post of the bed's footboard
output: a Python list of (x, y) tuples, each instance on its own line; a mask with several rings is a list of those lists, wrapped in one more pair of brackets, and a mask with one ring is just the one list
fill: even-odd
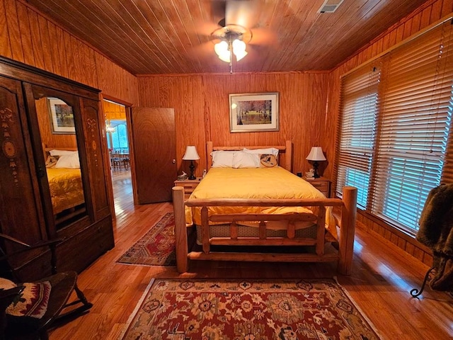
[(173, 186), (173, 213), (175, 215), (176, 268), (179, 273), (188, 271), (188, 239), (185, 227), (184, 188)]

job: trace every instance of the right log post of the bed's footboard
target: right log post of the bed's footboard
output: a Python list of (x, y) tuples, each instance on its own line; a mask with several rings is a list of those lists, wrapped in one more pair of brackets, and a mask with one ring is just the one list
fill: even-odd
[(352, 273), (352, 256), (354, 255), (357, 188), (345, 186), (342, 200), (338, 271), (343, 275), (350, 275)]

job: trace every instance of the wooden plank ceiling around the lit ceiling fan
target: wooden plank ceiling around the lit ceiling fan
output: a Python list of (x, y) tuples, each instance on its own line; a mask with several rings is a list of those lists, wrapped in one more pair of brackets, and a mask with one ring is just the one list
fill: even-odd
[(137, 75), (229, 72), (210, 35), (225, 17), (253, 35), (234, 72), (330, 70), (427, 0), (344, 0), (335, 13), (319, 13), (323, 0), (27, 2)]

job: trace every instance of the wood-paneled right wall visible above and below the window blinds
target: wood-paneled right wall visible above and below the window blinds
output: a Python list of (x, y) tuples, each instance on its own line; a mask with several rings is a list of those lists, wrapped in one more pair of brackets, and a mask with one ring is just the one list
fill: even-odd
[[(357, 51), (343, 64), (340, 64), (333, 70), (331, 91), (329, 91), (328, 101), (331, 103), (329, 106), (328, 115), (332, 121), (338, 119), (338, 101), (340, 95), (340, 77), (346, 72), (354, 69), (379, 55), (380, 53), (388, 50), (390, 47), (402, 42), (411, 35), (418, 33), (420, 30), (427, 28), (432, 23), (440, 21), (440, 19), (452, 14), (453, 0), (431, 0), (427, 1), (423, 6), (420, 6), (411, 15), (403, 18), (400, 22), (386, 30), (382, 35), (375, 38), (368, 45)], [(367, 227), (370, 232), (379, 234), (384, 239), (392, 242), (415, 256), (420, 261), (427, 263), (429, 266), (432, 263), (432, 256), (428, 248), (415, 241), (403, 232), (399, 232), (393, 227), (386, 225), (384, 222), (372, 219), (365, 214), (357, 215), (357, 222), (359, 225)]]

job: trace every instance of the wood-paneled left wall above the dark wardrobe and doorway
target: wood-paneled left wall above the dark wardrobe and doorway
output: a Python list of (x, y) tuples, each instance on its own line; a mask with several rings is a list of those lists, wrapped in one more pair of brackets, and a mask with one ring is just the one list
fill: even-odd
[(137, 103), (137, 78), (20, 0), (0, 0), (0, 55)]

